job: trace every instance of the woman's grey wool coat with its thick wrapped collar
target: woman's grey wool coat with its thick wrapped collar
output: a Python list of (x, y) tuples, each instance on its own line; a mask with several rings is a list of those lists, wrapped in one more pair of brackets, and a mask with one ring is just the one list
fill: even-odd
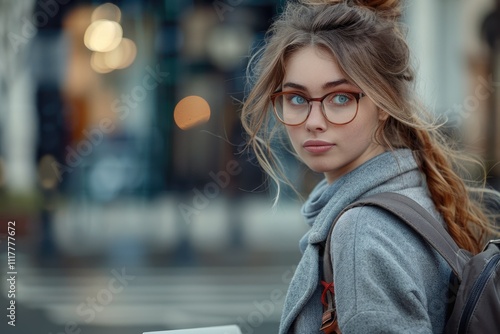
[[(322, 304), (319, 243), (349, 203), (375, 193), (407, 195), (438, 219), (412, 152), (385, 152), (333, 184), (320, 182), (304, 205), (311, 229), (290, 283), (280, 333), (318, 333)], [(335, 300), (342, 333), (442, 333), (451, 269), (413, 231), (385, 211), (354, 208), (332, 235)]]

